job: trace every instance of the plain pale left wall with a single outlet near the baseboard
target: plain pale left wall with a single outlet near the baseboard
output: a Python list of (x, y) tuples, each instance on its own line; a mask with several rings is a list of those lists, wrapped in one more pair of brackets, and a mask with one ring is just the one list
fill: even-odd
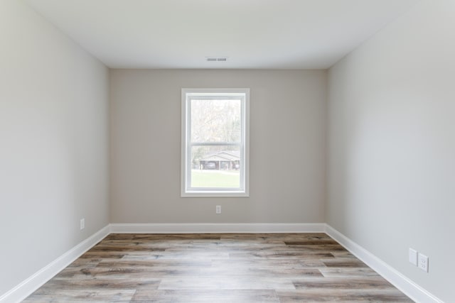
[(109, 223), (107, 99), (104, 65), (0, 1), (0, 297)]

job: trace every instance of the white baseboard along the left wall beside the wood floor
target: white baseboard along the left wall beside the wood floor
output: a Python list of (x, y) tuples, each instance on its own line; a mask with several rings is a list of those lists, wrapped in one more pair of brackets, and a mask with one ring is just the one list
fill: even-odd
[(94, 233), (92, 236), (90, 236), (90, 238), (87, 238), (81, 243), (77, 244), (77, 246), (71, 248), (66, 253), (53, 260), (53, 262), (49, 263), (44, 268), (41, 268), (41, 270), (38, 270), (38, 272), (28, 277), (12, 290), (9, 290), (9, 292), (1, 295), (0, 302), (21, 302), (35, 290), (38, 290), (38, 288), (41, 287), (45, 282), (48, 282), (48, 280), (50, 280), (53, 276), (57, 275), (58, 272), (73, 263), (73, 261), (79, 258), (80, 255), (95, 246), (96, 243), (100, 242), (102, 238), (105, 238), (107, 235), (109, 235), (109, 225), (101, 228), (100, 231)]

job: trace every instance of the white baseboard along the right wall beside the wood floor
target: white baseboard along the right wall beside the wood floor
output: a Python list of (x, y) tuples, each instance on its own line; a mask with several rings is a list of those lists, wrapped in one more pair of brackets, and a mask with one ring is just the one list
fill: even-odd
[(444, 303), (328, 224), (326, 224), (326, 233), (415, 302)]

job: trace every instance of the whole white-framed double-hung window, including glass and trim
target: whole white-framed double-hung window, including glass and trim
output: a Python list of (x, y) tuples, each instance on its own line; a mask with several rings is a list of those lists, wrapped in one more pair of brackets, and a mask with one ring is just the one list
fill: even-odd
[(182, 89), (182, 197), (248, 197), (250, 89)]

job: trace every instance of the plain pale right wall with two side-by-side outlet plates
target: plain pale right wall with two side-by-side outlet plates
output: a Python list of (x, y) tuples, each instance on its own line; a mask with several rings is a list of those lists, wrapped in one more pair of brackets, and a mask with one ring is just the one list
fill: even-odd
[[(453, 302), (455, 1), (426, 0), (329, 71), (327, 222)], [(408, 248), (429, 256), (429, 273)]]

